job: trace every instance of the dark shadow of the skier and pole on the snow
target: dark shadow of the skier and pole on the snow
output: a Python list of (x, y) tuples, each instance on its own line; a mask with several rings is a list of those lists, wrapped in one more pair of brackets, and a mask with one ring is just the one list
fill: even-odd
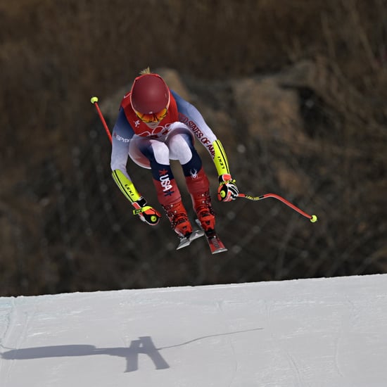
[(77, 356), (93, 356), (93, 355), (110, 355), (124, 357), (127, 361), (127, 367), (125, 372), (134, 372), (139, 369), (139, 354), (147, 355), (155, 364), (156, 369), (170, 368), (163, 356), (160, 354), (160, 350), (168, 348), (176, 348), (194, 341), (199, 341), (204, 338), (210, 338), (215, 336), (228, 336), (232, 334), (240, 334), (248, 331), (258, 331), (263, 328), (247, 329), (244, 331), (234, 331), (227, 334), (213, 334), (203, 336), (200, 338), (194, 338), (193, 340), (186, 341), (176, 345), (170, 345), (162, 348), (156, 348), (153, 344), (151, 336), (141, 336), (138, 340), (132, 340), (127, 348), (96, 348), (94, 345), (51, 345), (46, 347), (36, 348), (20, 348), (17, 350), (8, 350), (1, 353), (1, 357), (6, 360), (30, 360), (30, 359), (44, 359), (46, 357), (77, 357)]

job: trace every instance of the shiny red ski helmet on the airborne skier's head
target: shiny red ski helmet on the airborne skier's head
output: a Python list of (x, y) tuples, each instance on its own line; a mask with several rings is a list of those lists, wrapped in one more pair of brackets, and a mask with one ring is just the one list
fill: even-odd
[(140, 75), (132, 84), (130, 103), (141, 115), (160, 113), (170, 105), (170, 89), (160, 75)]

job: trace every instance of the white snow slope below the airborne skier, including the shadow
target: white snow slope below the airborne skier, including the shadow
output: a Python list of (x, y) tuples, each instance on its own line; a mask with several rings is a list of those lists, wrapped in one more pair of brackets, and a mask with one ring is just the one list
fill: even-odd
[(387, 274), (0, 298), (1, 387), (387, 386)]

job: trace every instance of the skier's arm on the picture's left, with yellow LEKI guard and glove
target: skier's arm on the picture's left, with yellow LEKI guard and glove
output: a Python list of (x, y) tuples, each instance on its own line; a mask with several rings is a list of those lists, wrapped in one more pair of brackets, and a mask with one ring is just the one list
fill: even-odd
[[(144, 197), (142, 197), (130, 179), (126, 165), (129, 151), (129, 143), (132, 138), (132, 128), (126, 127), (129, 125), (122, 116), (123, 110), (120, 110), (118, 120), (113, 128), (112, 136), (112, 153), (110, 167), (112, 177), (118, 188), (124, 194), (125, 198), (133, 205), (135, 215), (139, 215), (140, 219), (148, 224), (155, 225), (160, 220), (160, 213), (152, 208)], [(125, 119), (125, 120), (124, 120)], [(126, 130), (124, 128), (126, 127)], [(128, 136), (129, 134), (129, 136)]]

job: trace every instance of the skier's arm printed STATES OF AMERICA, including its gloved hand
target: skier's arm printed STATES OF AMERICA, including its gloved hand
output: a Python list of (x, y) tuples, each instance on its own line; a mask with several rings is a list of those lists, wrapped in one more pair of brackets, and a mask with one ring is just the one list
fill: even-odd
[(207, 148), (212, 160), (214, 161), (217, 175), (219, 176), (220, 186), (217, 189), (217, 197), (220, 201), (232, 201), (238, 197), (239, 190), (235, 184), (235, 180), (231, 177), (229, 170), (229, 162), (226, 153), (219, 139), (214, 132), (206, 124), (203, 116), (191, 105), (191, 103), (182, 99), (179, 94), (172, 91), (177, 103), (177, 110), (179, 110), (179, 118), (182, 122), (194, 132), (198, 141)]

